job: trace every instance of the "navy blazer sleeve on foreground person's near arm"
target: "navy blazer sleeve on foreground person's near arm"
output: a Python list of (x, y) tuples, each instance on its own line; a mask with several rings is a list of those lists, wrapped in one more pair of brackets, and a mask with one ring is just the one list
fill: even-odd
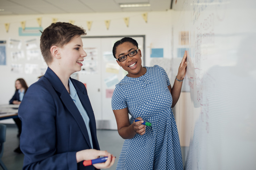
[(41, 84), (31, 85), (18, 109), (22, 121), (23, 169), (77, 169), (76, 151), (56, 154), (57, 108), (47, 88)]

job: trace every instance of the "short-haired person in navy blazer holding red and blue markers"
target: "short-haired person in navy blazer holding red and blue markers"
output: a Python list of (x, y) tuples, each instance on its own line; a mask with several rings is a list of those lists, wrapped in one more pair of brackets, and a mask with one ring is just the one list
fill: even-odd
[[(81, 70), (83, 28), (57, 22), (45, 28), (40, 48), (48, 68), (32, 84), (18, 115), (22, 121), (20, 148), (23, 169), (95, 170), (109, 168), (115, 157), (100, 151), (96, 121), (87, 90), (71, 74)], [(104, 163), (84, 166), (84, 160), (108, 157)]]

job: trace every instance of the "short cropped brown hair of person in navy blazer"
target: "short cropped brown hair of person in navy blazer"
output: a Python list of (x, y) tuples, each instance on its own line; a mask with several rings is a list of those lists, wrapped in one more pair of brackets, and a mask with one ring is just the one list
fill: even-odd
[(52, 62), (52, 46), (62, 47), (76, 35), (86, 35), (86, 32), (83, 28), (65, 22), (52, 23), (45, 28), (40, 38), (40, 49), (46, 64)]

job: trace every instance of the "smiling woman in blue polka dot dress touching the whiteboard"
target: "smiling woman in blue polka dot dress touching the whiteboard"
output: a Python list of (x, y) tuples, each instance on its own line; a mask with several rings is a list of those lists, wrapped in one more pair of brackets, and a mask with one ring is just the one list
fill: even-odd
[[(125, 37), (113, 47), (117, 63), (128, 74), (116, 85), (112, 109), (124, 141), (117, 170), (183, 169), (181, 146), (172, 108), (186, 74), (186, 52), (171, 87), (160, 66), (142, 67), (136, 40)], [(131, 118), (129, 119), (129, 115)], [(135, 119), (140, 121), (135, 122)], [(152, 126), (141, 123), (150, 122)]]

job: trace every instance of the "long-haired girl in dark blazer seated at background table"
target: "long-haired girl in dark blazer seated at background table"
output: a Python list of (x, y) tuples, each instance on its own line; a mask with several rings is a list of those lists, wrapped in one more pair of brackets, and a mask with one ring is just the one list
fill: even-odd
[[(9, 101), (9, 104), (20, 104), (23, 99), (24, 94), (27, 92), (29, 87), (28, 87), (27, 83), (25, 82), (25, 80), (20, 78), (20, 79), (16, 80), (15, 88), (16, 88), (15, 93), (12, 96), (11, 100)], [(19, 129), (19, 133), (18, 133), (17, 137), (20, 137), (21, 120), (19, 118), (14, 118), (13, 120)]]

